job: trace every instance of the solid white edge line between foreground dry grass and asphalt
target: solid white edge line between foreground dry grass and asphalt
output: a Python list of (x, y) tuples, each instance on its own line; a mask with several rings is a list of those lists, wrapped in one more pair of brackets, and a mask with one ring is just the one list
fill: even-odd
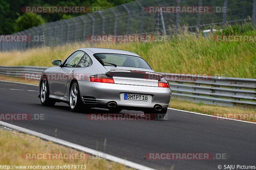
[[(0, 121), (0, 124), (3, 125), (3, 126), (6, 126), (8, 128), (11, 128), (11, 129), (14, 129), (14, 130), (17, 130), (17, 131), (21, 131), (21, 132), (24, 132), (24, 133), (28, 133), (30, 135), (33, 135), (33, 136), (36, 136), (36, 137), (39, 137), (39, 138), (42, 138), (42, 139), (45, 139), (45, 140), (48, 140), (48, 141), (52, 141), (52, 142), (60, 144), (60, 145), (65, 145), (65, 146), (68, 146), (68, 147), (71, 147), (71, 148), (74, 148), (74, 149), (77, 149), (77, 150), (80, 150), (80, 151), (83, 151), (83, 152), (86, 152), (86, 153), (90, 153), (90, 154), (93, 154), (93, 155), (103, 153), (103, 152), (100, 152), (100, 151), (96, 151), (94, 149), (90, 149), (90, 148), (87, 148), (87, 147), (84, 147), (84, 146), (81, 146), (81, 145), (77, 145), (77, 144), (62, 140), (62, 139), (54, 138), (54, 137), (45, 135), (43, 133), (39, 133), (39, 132), (36, 132), (36, 131), (31, 131), (29, 129), (22, 128), (20, 126), (9, 124), (9, 123), (3, 122), (3, 121)], [(131, 168), (135, 168), (135, 169), (139, 169), (139, 170), (155, 170), (153, 168), (150, 168), (150, 167), (147, 167), (147, 166), (144, 166), (144, 165), (140, 165), (140, 164), (137, 164), (137, 163), (134, 163), (134, 162), (131, 162), (129, 160), (122, 159), (122, 158), (118, 158), (116, 156), (109, 155), (107, 153), (103, 153), (103, 155), (106, 156), (106, 159), (108, 159), (110, 161), (113, 161), (113, 162), (116, 162), (116, 163), (119, 163), (119, 164), (123, 164), (123, 165), (129, 166)]]

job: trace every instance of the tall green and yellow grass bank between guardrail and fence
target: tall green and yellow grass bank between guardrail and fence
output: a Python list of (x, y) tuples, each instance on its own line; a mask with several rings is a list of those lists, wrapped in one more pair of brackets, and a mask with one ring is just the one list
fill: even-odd
[(168, 42), (75, 43), (40, 47), (26, 51), (0, 52), (0, 65), (52, 66), (81, 47), (128, 50), (139, 54), (157, 72), (224, 74), (228, 77), (256, 78), (256, 44), (252, 42), (215, 42), (188, 33)]

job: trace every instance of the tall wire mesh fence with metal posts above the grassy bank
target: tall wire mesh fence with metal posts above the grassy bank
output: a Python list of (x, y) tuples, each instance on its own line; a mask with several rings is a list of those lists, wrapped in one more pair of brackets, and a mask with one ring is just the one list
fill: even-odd
[[(208, 6), (212, 12), (148, 12), (157, 6)], [(215, 11), (222, 9), (222, 11)], [(224, 9), (224, 10), (223, 10)], [(225, 10), (226, 9), (226, 10)], [(75, 18), (46, 23), (12, 35), (27, 35), (25, 42), (0, 41), (0, 51), (23, 50), (36, 46), (56, 46), (86, 41), (91, 35), (165, 34), (172, 35), (180, 28), (191, 32), (210, 29), (212, 25), (224, 27), (226, 23), (255, 24), (256, 0), (139, 0), (88, 13)]]

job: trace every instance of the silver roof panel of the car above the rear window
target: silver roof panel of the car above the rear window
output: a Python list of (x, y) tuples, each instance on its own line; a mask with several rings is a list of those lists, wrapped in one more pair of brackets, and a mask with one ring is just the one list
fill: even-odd
[(93, 47), (86, 47), (84, 48), (86, 50), (90, 50), (92, 53), (115, 53), (115, 54), (126, 54), (126, 55), (133, 55), (140, 57), (138, 54), (130, 52), (130, 51), (124, 51), (124, 50), (117, 50), (117, 49), (110, 49), (110, 48), (93, 48)]

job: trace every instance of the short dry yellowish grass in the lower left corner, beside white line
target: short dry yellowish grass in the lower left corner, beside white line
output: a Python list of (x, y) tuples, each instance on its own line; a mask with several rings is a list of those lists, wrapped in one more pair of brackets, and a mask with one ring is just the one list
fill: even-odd
[[(22, 153), (83, 153), (50, 141), (16, 131), (0, 129), (1, 165), (46, 166), (46, 165), (86, 165), (86, 169), (130, 169), (106, 159), (23, 159)], [(23, 168), (20, 168), (23, 169)], [(25, 168), (24, 168), (25, 169)], [(40, 168), (39, 168), (40, 169)], [(57, 168), (55, 168), (57, 169)], [(65, 168), (64, 168), (65, 169)], [(68, 169), (68, 168), (67, 168)], [(69, 168), (71, 169), (71, 168)], [(73, 168), (74, 169), (74, 168)], [(80, 168), (79, 168), (80, 169)]]

